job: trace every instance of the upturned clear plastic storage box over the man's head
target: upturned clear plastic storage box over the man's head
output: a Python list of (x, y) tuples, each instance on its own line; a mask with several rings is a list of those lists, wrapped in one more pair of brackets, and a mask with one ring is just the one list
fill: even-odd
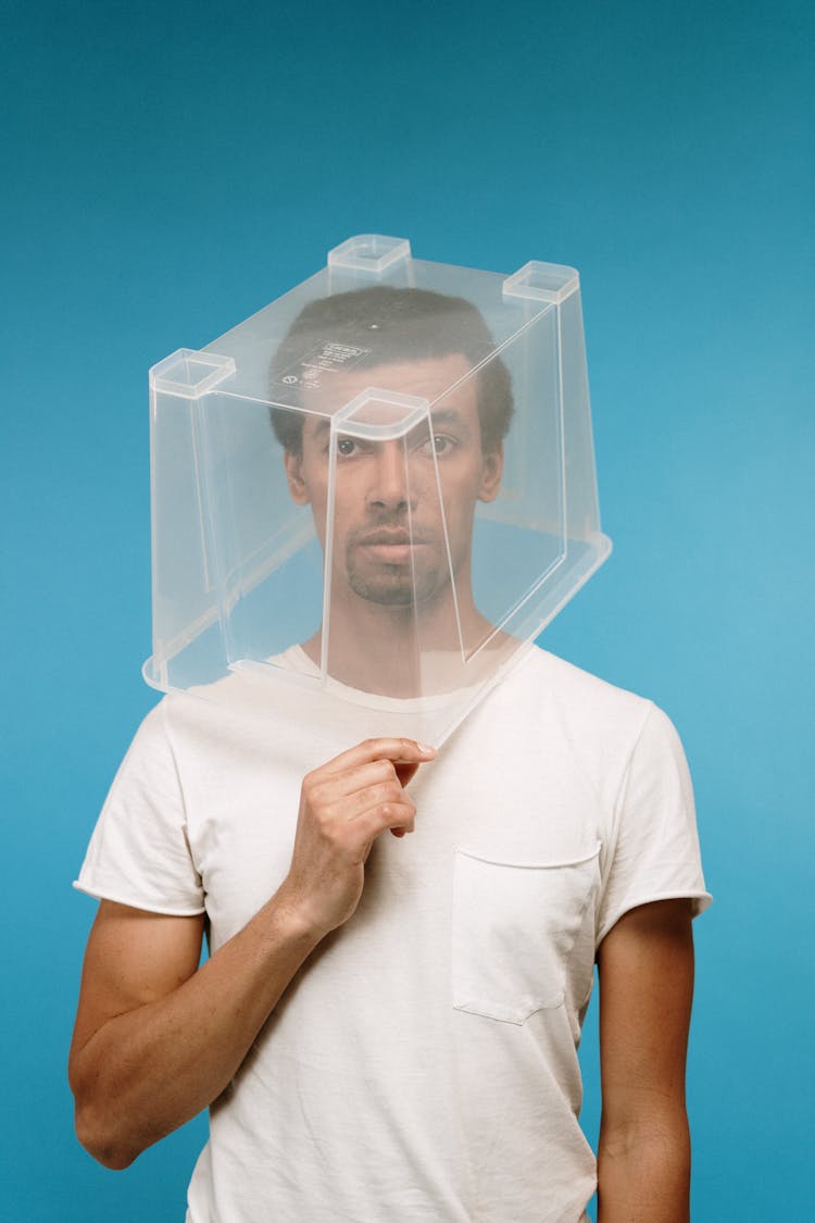
[(165, 691), (261, 707), (293, 685), (439, 745), (610, 552), (579, 279), (556, 264), (352, 237), (150, 371), (150, 446)]

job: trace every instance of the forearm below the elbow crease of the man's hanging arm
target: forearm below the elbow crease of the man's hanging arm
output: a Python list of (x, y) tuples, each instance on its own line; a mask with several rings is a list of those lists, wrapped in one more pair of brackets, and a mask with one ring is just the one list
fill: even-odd
[(654, 1118), (637, 1134), (600, 1132), (598, 1223), (688, 1223), (687, 1117)]

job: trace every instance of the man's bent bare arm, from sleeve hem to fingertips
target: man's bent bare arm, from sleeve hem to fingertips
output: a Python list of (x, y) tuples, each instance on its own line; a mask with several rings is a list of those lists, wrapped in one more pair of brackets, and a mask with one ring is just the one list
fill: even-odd
[(354, 912), (376, 837), (413, 830), (403, 785), (433, 756), (369, 740), (309, 773), (285, 882), (200, 969), (203, 917), (101, 903), (68, 1065), (97, 1159), (127, 1167), (226, 1088), (299, 966)]

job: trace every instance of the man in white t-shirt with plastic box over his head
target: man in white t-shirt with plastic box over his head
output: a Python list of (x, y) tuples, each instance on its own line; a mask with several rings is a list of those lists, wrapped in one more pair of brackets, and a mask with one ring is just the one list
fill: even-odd
[[(324, 545), (331, 412), (398, 385), (434, 405), (433, 430), (336, 442), (327, 659), (346, 702), (170, 696), (126, 757), (79, 879), (101, 905), (77, 1132), (121, 1168), (209, 1106), (191, 1223), (577, 1223), (595, 1188), (576, 1046), (596, 955), (600, 1221), (681, 1223), (690, 917), (709, 898), (678, 740), (650, 703), (534, 648), (440, 751), (370, 737), (426, 693), (418, 638), (441, 702), (456, 638), (503, 648), (470, 560), (511, 404), (496, 426), (496, 362), (461, 380), (473, 307), (363, 290), (292, 334), (337, 311), (360, 351), (360, 327), (395, 346), (305, 389), (323, 417), (275, 416)], [(314, 670), (321, 637), (280, 664)]]

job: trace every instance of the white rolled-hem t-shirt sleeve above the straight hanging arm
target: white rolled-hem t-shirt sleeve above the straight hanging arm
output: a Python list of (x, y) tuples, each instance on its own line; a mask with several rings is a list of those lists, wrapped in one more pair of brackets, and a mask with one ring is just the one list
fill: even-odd
[(690, 774), (673, 724), (650, 706), (630, 753), (602, 871), (596, 944), (629, 909), (688, 896), (695, 917), (705, 888)]

